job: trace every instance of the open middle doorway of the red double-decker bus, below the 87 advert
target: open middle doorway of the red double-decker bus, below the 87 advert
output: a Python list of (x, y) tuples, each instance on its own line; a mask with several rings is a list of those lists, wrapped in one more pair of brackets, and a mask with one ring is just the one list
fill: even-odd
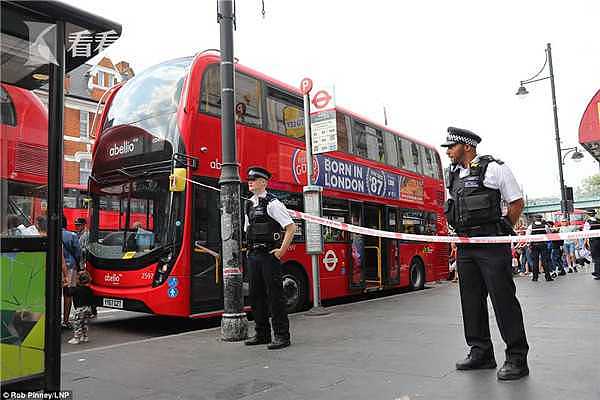
[[(365, 204), (363, 209), (363, 226), (371, 229), (381, 229), (383, 219), (383, 207)], [(382, 267), (382, 238), (377, 236), (364, 237), (365, 242), (365, 260), (364, 270), (367, 282), (367, 288), (383, 287)]]

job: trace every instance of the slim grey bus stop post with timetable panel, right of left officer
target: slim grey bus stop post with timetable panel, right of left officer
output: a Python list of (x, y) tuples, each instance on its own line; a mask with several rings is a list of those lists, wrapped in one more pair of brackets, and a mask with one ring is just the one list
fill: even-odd
[[(321, 188), (319, 186), (315, 186), (313, 185), (312, 182), (312, 174), (313, 174), (313, 166), (312, 166), (312, 160), (313, 160), (313, 155), (312, 155), (312, 140), (311, 140), (311, 126), (310, 126), (310, 89), (312, 88), (312, 82), (310, 83), (310, 88), (305, 88), (305, 83), (303, 81), (303, 83), (301, 84), (302, 86), (302, 90), (304, 92), (304, 140), (306, 143), (306, 186), (304, 187), (304, 211), (306, 213), (311, 213), (311, 214), (318, 214), (318, 216), (321, 216), (321, 201), (320, 201), (320, 196), (321, 196)], [(309, 199), (311, 196), (314, 196), (314, 198), (317, 198), (317, 206), (313, 207), (312, 210), (309, 210)], [(316, 210), (315, 210), (316, 208)], [(320, 278), (320, 273), (319, 273), (319, 259), (318, 259), (318, 254), (321, 253), (323, 251), (323, 243), (322, 243), (322, 236), (319, 234), (320, 236), (320, 240), (321, 240), (321, 249), (319, 250), (311, 250), (309, 247), (309, 241), (310, 238), (308, 237), (310, 235), (309, 232), (309, 224), (311, 224), (311, 222), (306, 222), (306, 231), (307, 234), (305, 235), (305, 239), (306, 239), (306, 250), (307, 253), (310, 254), (310, 260), (311, 260), (311, 264), (312, 264), (312, 277), (313, 277), (313, 308), (310, 310), (310, 314), (313, 315), (325, 315), (328, 314), (328, 312), (326, 312), (323, 307), (321, 306), (321, 278)], [(321, 231), (321, 226), (318, 225), (318, 229), (319, 229), (319, 233)]]

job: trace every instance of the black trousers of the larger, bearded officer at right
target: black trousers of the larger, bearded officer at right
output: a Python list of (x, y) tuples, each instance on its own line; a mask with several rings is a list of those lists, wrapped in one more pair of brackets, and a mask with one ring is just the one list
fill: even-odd
[(512, 278), (510, 244), (459, 244), (458, 272), (465, 338), (474, 358), (494, 355), (489, 294), (508, 360), (527, 358), (523, 313)]

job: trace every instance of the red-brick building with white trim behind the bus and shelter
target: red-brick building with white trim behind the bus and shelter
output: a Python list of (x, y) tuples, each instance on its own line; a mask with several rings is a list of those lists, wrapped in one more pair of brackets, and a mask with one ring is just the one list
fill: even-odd
[[(98, 103), (110, 87), (133, 76), (129, 63), (121, 61), (113, 64), (107, 57), (95, 65), (83, 64), (66, 75), (63, 162), (65, 185), (87, 185), (94, 144), (90, 132)], [(47, 105), (47, 89), (35, 92)]]

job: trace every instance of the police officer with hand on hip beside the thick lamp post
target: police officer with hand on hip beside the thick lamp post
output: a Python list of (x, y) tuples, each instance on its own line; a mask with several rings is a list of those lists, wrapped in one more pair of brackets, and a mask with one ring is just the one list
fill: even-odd
[[(285, 205), (266, 191), (271, 174), (264, 168), (248, 169), (248, 187), (254, 194), (246, 202), (244, 230), (248, 242), (248, 274), (250, 304), (256, 323), (256, 334), (246, 345), (269, 344), (269, 350), (290, 345), (290, 323), (283, 296), (280, 260), (287, 251), (296, 224)], [(285, 232), (282, 234), (281, 230)], [(271, 342), (269, 311), (273, 323)]]

